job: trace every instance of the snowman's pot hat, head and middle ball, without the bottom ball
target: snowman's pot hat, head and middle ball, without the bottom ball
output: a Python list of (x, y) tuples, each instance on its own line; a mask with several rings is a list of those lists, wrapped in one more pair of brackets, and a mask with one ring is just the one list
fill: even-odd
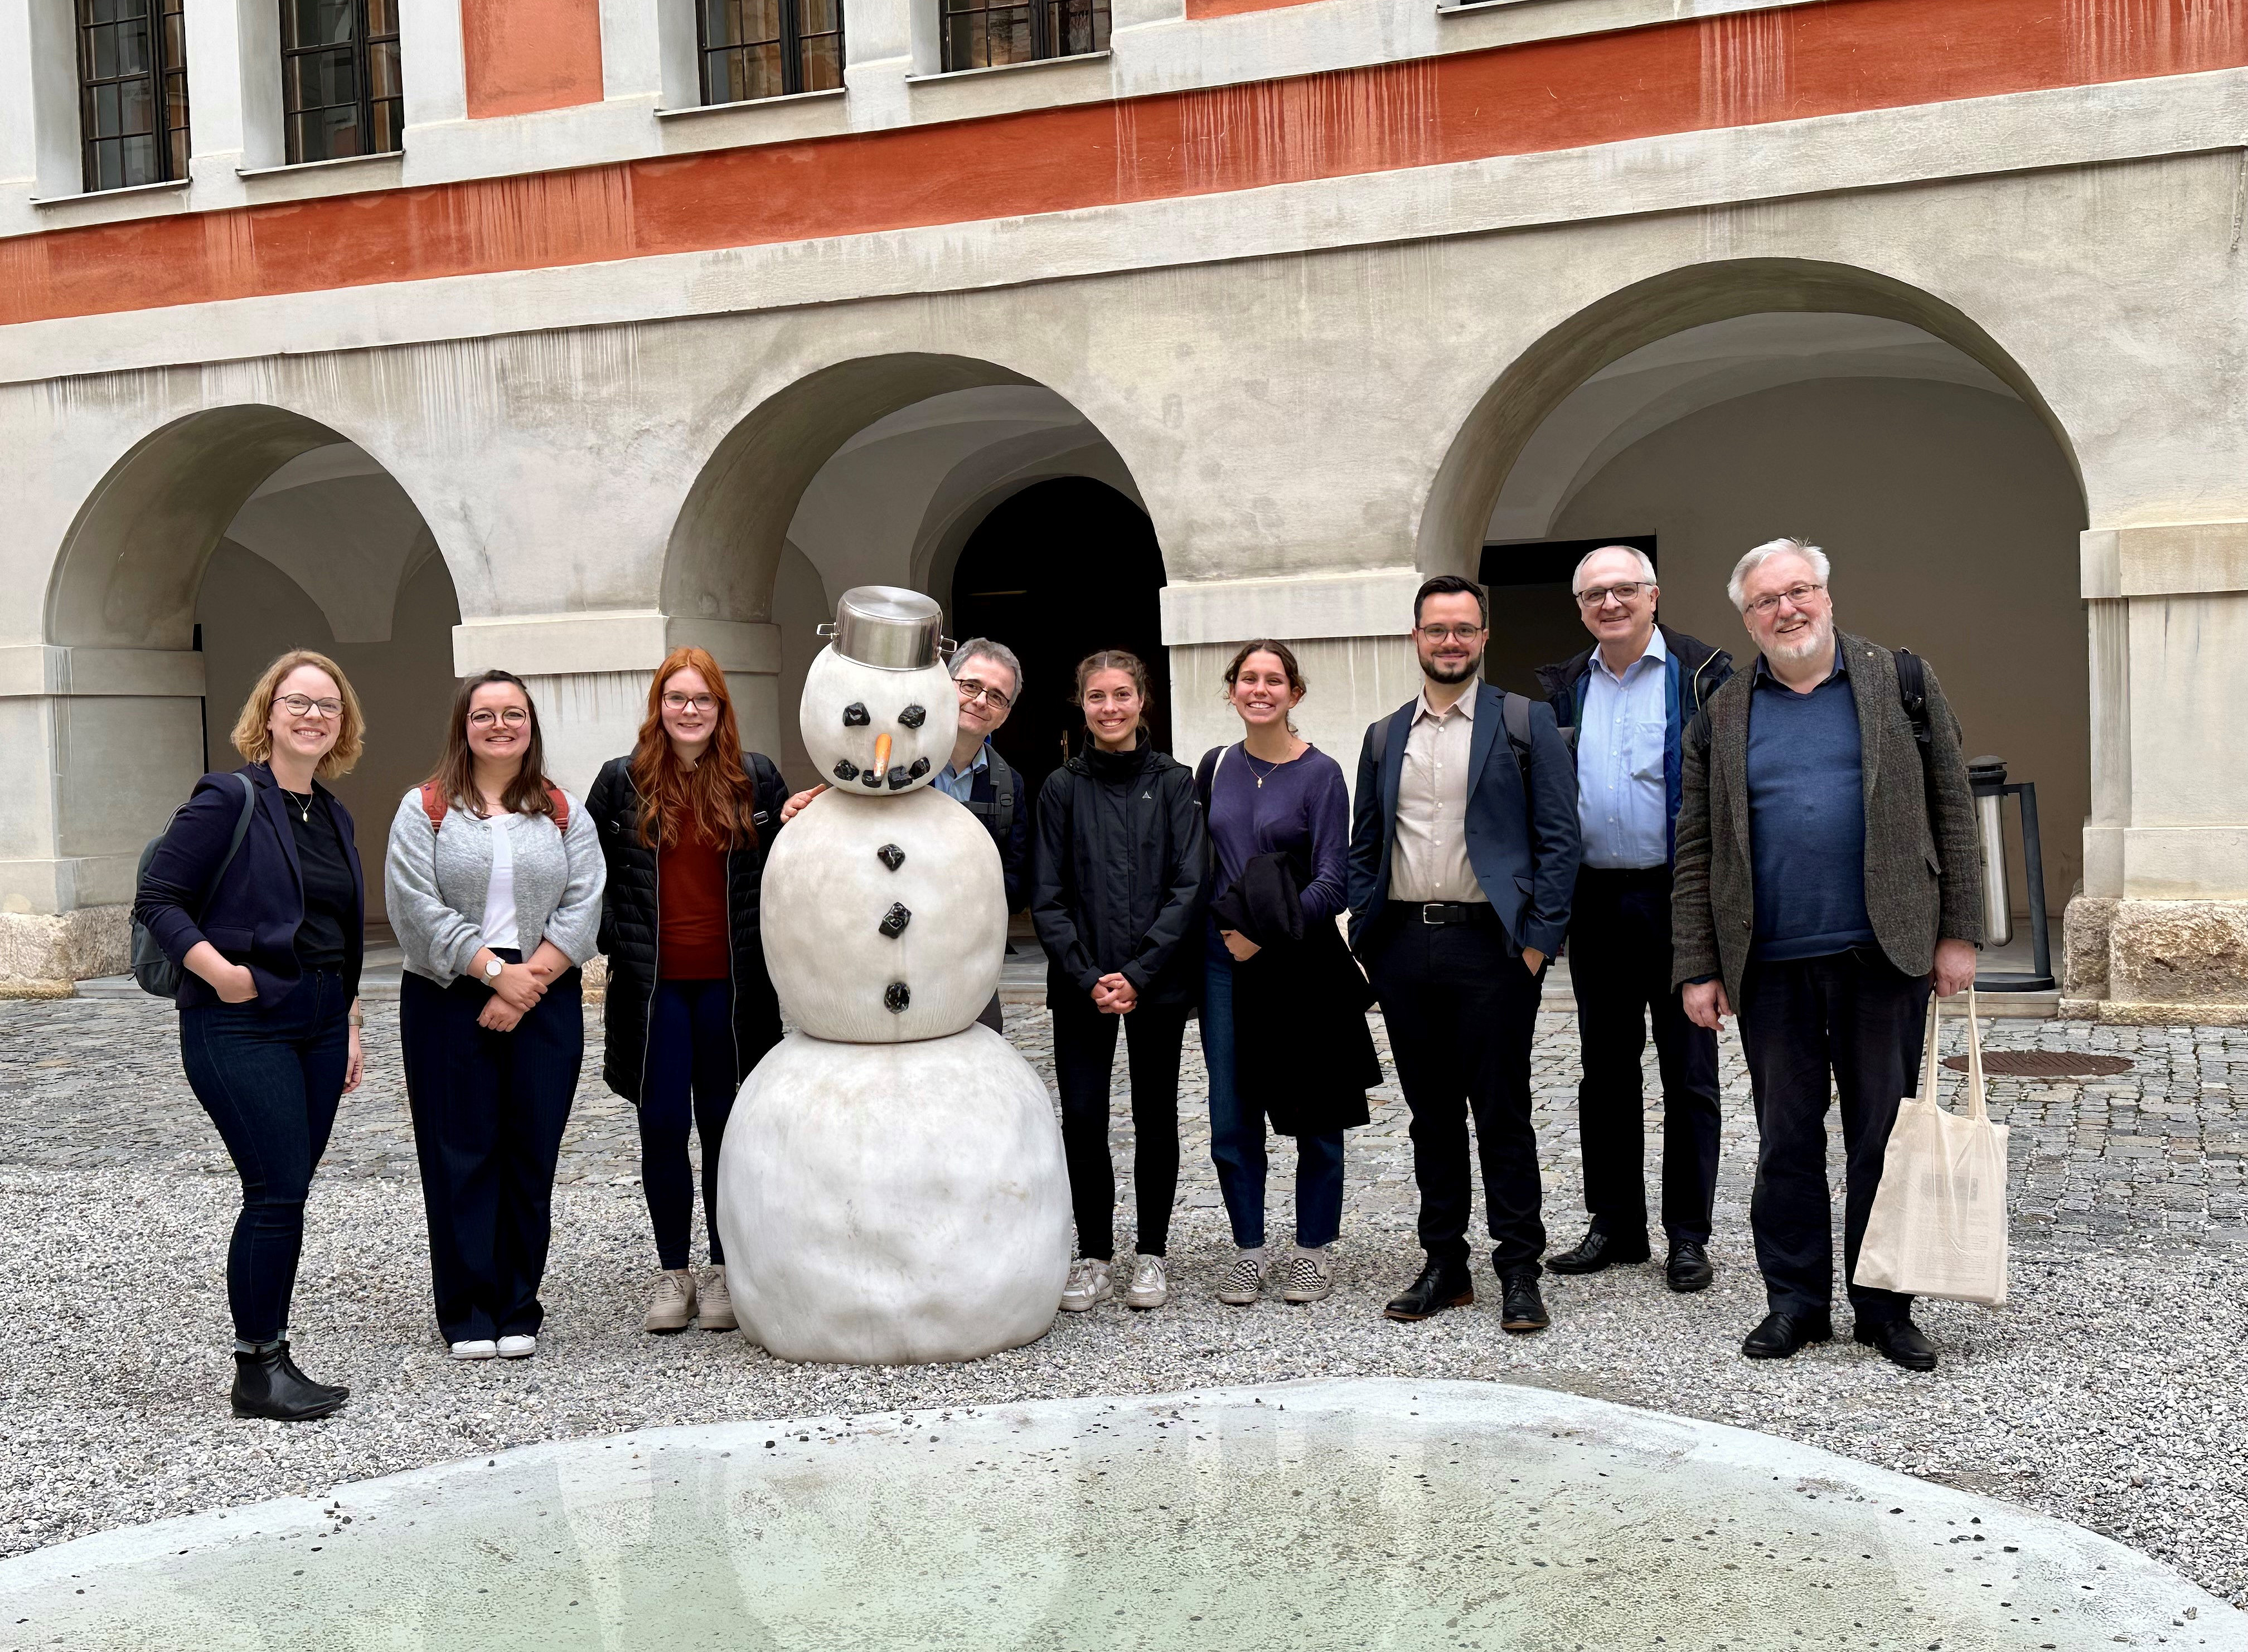
[(998, 991), (998, 850), (928, 787), (960, 728), (942, 620), (919, 591), (854, 587), (805, 677), (798, 726), (832, 791), (773, 841), (760, 928), (780, 1009), (814, 1038), (944, 1038)]

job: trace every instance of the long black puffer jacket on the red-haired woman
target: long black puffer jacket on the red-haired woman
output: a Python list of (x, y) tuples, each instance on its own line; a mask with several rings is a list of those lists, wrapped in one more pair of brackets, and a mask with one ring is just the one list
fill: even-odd
[[(733, 919), (733, 1081), (740, 1086), (767, 1050), (780, 1043), (780, 1002), (764, 973), (764, 940), (758, 933), (758, 888), (764, 881), (764, 845), (780, 832), (780, 805), (789, 789), (771, 757), (742, 753), (758, 791), (758, 843), (726, 856), (726, 908)], [(600, 832), (609, 863), (609, 888), (600, 901), (600, 951), (609, 955), (609, 1002), (602, 1014), (607, 1038), (602, 1081), (638, 1106), (647, 1072), (647, 1011), (656, 996), (656, 852), (641, 843), (641, 793), (632, 784), (632, 757), (600, 766), (584, 811)]]

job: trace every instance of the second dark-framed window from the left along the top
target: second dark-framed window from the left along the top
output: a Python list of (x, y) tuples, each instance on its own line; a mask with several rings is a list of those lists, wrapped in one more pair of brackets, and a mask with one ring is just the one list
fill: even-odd
[(398, 0), (281, 0), (290, 166), (402, 146)]

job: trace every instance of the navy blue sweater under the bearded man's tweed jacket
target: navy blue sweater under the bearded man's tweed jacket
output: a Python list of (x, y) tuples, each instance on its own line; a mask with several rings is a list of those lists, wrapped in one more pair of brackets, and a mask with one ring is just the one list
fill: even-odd
[(1756, 661), (1749, 701), (1751, 957), (1778, 964), (1873, 946), (1866, 915), (1866, 769), (1843, 674), (1798, 695)]

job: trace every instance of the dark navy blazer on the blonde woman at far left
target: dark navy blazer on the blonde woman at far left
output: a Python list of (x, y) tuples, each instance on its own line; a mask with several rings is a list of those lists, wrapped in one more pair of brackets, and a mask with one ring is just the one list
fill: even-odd
[[(261, 1009), (279, 1005), (303, 980), (297, 966), (303, 870), (297, 865), (288, 800), (263, 762), (245, 764), (236, 773), (250, 775), (256, 784), (259, 807), (218, 888), (211, 888), (211, 877), (227, 859), (234, 823), (243, 814), (243, 782), (229, 773), (209, 773), (196, 782), (196, 791), (173, 816), (164, 843), (148, 861), (133, 901), (133, 917), (148, 928), (164, 957), (180, 964), (184, 978), (180, 1009), (220, 1002), (209, 982), (187, 969), (187, 953), (196, 942), (211, 942), (229, 964), (250, 964)], [(351, 865), (353, 922), (344, 926), (344, 989), (357, 996), (360, 960), (366, 951), (366, 881), (360, 874), (360, 845), (351, 832), (351, 811), (317, 780), (312, 789), (328, 800), (328, 818), (344, 836), (344, 863)]]

